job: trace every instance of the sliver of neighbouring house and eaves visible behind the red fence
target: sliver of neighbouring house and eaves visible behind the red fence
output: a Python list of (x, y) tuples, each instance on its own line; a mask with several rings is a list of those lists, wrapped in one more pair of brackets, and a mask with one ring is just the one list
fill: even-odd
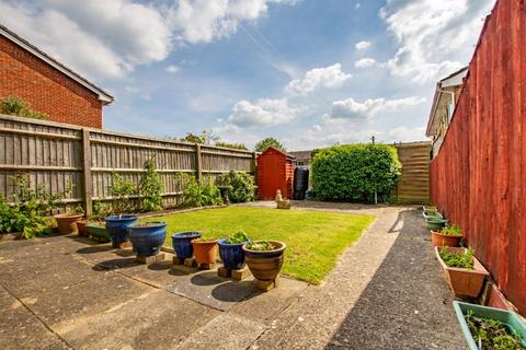
[(446, 100), (444, 94), (450, 95), (455, 93), (455, 89), (464, 84), (464, 79), (468, 74), (468, 67), (464, 67), (456, 72), (447, 75), (436, 83), (435, 96), (433, 97), (433, 105), (431, 106), (431, 114), (427, 120), (427, 128), (425, 135), (432, 137), (435, 135), (437, 125), (437, 112), (445, 106)]

